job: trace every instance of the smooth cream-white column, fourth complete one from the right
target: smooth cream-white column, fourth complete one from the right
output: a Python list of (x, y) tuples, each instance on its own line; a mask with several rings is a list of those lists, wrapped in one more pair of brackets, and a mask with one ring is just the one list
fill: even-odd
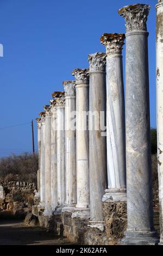
[(77, 152), (77, 204), (73, 217), (90, 218), (89, 194), (89, 69), (75, 69), (76, 78), (76, 152)]

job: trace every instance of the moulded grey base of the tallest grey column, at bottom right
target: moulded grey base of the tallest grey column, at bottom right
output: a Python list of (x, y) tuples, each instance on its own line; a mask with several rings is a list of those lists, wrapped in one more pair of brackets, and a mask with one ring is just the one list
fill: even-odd
[(156, 231), (126, 231), (121, 245), (158, 245), (159, 239)]

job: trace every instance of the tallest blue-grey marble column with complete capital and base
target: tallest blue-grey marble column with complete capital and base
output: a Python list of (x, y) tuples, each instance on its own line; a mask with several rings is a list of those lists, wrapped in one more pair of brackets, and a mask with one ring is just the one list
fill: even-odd
[(152, 168), (149, 121), (149, 5), (123, 7), (126, 19), (126, 165), (128, 225), (122, 244), (158, 242), (153, 227)]

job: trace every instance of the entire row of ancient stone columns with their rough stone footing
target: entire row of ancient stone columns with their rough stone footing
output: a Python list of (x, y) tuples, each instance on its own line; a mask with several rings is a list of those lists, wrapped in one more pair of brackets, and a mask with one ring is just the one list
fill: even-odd
[(105, 51), (89, 54), (89, 68), (74, 67), (74, 80), (63, 82), (63, 91), (52, 94), (36, 119), (32, 212), (41, 227), (77, 244), (163, 245), (163, 1), (156, 4), (160, 239), (153, 224), (149, 10), (147, 4), (118, 10), (126, 35), (104, 33)]

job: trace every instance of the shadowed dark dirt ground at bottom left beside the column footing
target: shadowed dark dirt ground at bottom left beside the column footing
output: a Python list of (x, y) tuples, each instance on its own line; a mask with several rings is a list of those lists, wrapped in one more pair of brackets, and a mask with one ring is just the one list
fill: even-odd
[(22, 221), (0, 220), (0, 245), (71, 245), (40, 227), (23, 227)]

